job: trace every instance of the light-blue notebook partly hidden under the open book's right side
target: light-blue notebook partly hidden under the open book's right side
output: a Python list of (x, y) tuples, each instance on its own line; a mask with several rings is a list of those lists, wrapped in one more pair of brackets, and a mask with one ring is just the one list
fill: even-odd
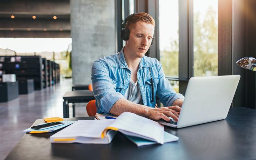
[[(145, 139), (139, 138), (139, 137), (127, 136), (125, 134), (124, 134), (124, 136), (127, 137), (129, 140), (131, 140), (133, 143), (135, 143), (138, 147), (145, 146), (145, 145), (151, 145), (151, 144), (159, 144), (157, 142), (145, 140)], [(173, 142), (176, 140), (179, 140), (179, 137), (176, 137), (176, 136), (172, 135), (171, 133), (164, 132), (164, 143)]]

